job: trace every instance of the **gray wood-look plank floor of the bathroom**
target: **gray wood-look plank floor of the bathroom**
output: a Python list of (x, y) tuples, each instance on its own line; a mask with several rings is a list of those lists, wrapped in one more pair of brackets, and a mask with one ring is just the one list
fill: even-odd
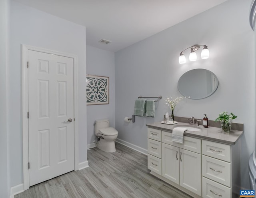
[(116, 152), (93, 148), (88, 168), (30, 187), (14, 198), (191, 198), (152, 176), (147, 156), (116, 143)]

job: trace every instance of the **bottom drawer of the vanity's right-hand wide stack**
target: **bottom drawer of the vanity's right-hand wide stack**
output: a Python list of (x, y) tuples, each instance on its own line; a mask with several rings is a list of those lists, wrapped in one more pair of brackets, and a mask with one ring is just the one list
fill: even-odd
[(205, 198), (230, 198), (231, 189), (227, 186), (223, 186), (217, 182), (209, 180), (207, 178), (202, 178), (202, 197)]

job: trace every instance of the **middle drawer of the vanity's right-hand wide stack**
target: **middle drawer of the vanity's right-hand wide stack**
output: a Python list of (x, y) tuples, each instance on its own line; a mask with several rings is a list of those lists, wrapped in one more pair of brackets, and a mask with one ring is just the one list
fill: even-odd
[(225, 186), (231, 186), (231, 165), (229, 162), (203, 155), (202, 175)]

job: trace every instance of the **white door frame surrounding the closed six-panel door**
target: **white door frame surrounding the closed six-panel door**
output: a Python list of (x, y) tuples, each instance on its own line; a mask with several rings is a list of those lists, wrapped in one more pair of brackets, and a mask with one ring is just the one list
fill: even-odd
[(29, 188), (28, 170), (28, 50), (66, 56), (74, 59), (74, 170), (78, 170), (78, 58), (73, 54), (66, 54), (44, 48), (22, 44), (22, 136), (23, 136), (23, 188)]

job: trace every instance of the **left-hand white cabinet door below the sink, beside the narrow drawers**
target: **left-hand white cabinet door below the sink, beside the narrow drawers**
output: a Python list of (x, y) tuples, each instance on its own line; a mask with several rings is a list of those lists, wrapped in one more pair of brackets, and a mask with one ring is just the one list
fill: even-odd
[(179, 148), (162, 143), (162, 176), (180, 183)]

